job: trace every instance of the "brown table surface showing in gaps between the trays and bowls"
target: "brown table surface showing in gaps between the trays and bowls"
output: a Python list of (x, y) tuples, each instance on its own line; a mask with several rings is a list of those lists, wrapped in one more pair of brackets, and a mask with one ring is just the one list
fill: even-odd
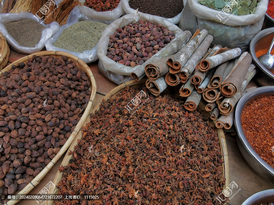
[[(25, 56), (24, 54), (16, 53), (11, 50), (9, 63), (14, 62), (15, 60)], [(96, 94), (96, 102), (94, 106), (96, 106), (101, 99), (104, 97), (107, 92), (111, 91), (114, 87), (118, 86), (117, 84), (111, 82), (107, 78), (101, 76), (97, 69), (98, 62), (91, 63), (89, 65), (97, 84), (97, 94)], [(253, 81), (248, 86), (258, 86), (258, 84)], [(229, 182), (234, 181), (238, 185), (238, 189), (241, 189), (231, 200), (230, 204), (233, 205), (241, 205), (249, 196), (253, 195), (262, 190), (274, 189), (274, 184), (269, 182), (269, 180), (263, 179), (260, 177), (255, 171), (248, 165), (248, 163), (244, 160), (241, 152), (238, 149), (236, 137), (230, 135), (230, 133), (226, 134), (226, 144), (228, 151), (228, 159), (229, 159)], [(61, 165), (61, 162), (64, 158), (65, 154), (58, 160), (58, 162), (51, 168), (51, 170), (47, 173), (47, 175), (40, 181), (40, 183), (30, 191), (29, 194), (37, 194), (40, 190), (50, 181), (53, 181), (54, 176), (58, 172), (58, 168)], [(233, 193), (234, 194), (234, 193)], [(28, 205), (37, 205), (37, 201), (19, 201), (18, 205), (25, 205), (26, 202)], [(38, 204), (42, 204), (42, 201)]]

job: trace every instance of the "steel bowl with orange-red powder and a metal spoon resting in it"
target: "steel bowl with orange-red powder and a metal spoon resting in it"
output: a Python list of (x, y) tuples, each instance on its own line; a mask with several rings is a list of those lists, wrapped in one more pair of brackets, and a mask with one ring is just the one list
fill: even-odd
[[(270, 17), (270, 16), (269, 16)], [(271, 18), (271, 17), (270, 17)], [(263, 49), (269, 49), (269, 46), (272, 42), (272, 39), (274, 37), (274, 27), (262, 30), (258, 32), (252, 39), (249, 44), (249, 52), (251, 54), (251, 57), (253, 61), (256, 63), (256, 65), (269, 77), (274, 78), (274, 73), (271, 73), (269, 70), (267, 70), (262, 63), (258, 60), (256, 56), (256, 52)]]

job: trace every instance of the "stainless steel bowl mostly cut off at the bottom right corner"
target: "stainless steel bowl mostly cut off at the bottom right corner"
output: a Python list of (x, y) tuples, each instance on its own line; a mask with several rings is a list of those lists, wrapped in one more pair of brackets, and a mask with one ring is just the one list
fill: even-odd
[(242, 205), (258, 205), (261, 203), (272, 203), (274, 202), (274, 189), (260, 191), (253, 194)]

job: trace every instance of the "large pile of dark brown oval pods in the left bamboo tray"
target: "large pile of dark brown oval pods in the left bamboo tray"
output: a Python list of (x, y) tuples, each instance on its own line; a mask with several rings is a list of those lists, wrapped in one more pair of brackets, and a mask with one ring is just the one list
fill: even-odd
[(80, 120), (91, 82), (72, 60), (33, 55), (0, 76), (0, 195), (22, 190)]

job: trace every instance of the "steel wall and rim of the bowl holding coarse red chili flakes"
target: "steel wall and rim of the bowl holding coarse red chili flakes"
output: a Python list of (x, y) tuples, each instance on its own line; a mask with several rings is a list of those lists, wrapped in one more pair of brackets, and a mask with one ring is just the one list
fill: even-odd
[[(244, 131), (241, 125), (241, 114), (244, 106), (250, 101), (251, 98), (259, 97), (262, 94), (266, 93), (274, 93), (274, 86), (265, 86), (265, 87), (259, 87), (255, 88), (252, 91), (249, 91), (247, 94), (245, 94), (241, 99), (239, 100), (236, 110), (235, 110), (235, 127), (238, 134), (239, 139), (241, 140), (244, 147), (248, 150), (248, 153), (255, 158), (255, 160), (272, 176), (274, 176), (274, 169), (267, 164), (258, 154), (255, 152), (255, 150), (252, 148), (252, 146), (249, 144), (247, 138), (244, 135)], [(255, 94), (255, 95), (254, 95)]]

